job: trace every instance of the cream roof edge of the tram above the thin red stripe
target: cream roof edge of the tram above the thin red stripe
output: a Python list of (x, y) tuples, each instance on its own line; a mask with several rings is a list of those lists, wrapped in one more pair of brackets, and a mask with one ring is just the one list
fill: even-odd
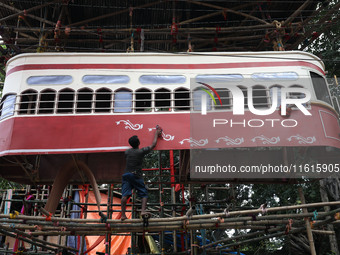
[[(67, 58), (67, 60), (66, 60)], [(226, 60), (226, 58), (228, 58)], [(25, 53), (11, 58), (6, 71), (24, 64), (210, 64), (304, 61), (324, 71), (324, 63), (303, 51), (193, 52), (193, 53)], [(124, 69), (124, 68), (122, 68)], [(161, 70), (162, 68), (157, 68)], [(165, 68), (166, 69), (166, 68)], [(181, 69), (181, 68), (176, 68)], [(199, 69), (199, 68), (198, 68)], [(204, 69), (204, 68), (202, 68)]]

